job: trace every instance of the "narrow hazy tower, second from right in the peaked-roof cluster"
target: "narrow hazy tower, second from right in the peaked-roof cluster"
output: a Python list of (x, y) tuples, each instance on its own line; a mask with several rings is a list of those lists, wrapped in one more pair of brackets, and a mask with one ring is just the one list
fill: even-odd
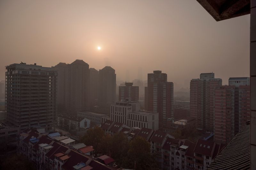
[(95, 68), (90, 68), (90, 90), (89, 90), (89, 106), (98, 104), (99, 97), (99, 71)]

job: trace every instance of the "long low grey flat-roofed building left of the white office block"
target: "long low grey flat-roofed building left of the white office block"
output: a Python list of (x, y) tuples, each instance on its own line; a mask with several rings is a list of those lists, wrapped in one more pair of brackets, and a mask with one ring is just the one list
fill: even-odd
[(97, 113), (92, 111), (78, 111), (77, 117), (84, 117), (91, 121), (91, 124), (100, 125), (104, 123), (108, 119), (107, 114), (104, 113)]

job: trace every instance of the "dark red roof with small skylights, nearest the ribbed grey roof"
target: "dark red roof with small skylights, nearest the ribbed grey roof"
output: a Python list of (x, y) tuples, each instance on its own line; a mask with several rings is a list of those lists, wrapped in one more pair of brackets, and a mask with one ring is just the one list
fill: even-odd
[(206, 156), (212, 156), (215, 143), (207, 140), (198, 139), (194, 152)]

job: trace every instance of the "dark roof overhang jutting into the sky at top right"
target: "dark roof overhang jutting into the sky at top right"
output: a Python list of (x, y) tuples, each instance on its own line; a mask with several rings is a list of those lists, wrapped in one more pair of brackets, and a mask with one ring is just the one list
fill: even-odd
[(216, 20), (250, 14), (250, 0), (196, 0)]

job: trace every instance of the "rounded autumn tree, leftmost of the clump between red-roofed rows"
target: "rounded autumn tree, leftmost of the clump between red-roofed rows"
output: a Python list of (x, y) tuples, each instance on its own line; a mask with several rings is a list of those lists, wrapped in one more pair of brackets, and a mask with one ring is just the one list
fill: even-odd
[(97, 152), (104, 135), (104, 131), (100, 127), (90, 128), (87, 130), (84, 137), (81, 138), (81, 142), (87, 146), (92, 145), (93, 149)]

